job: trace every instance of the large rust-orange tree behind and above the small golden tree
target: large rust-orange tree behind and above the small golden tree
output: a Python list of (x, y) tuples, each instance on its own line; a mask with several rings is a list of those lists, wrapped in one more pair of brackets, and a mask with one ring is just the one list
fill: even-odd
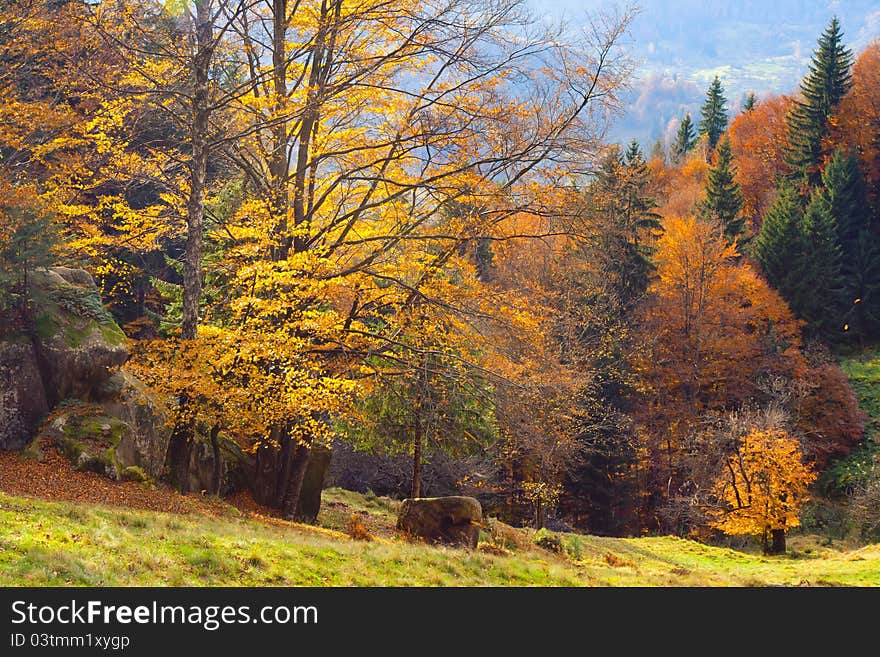
[(664, 228), (643, 308), (645, 347), (632, 359), (649, 507), (683, 483), (682, 440), (705, 413), (744, 403), (762, 378), (789, 377), (803, 360), (798, 321), (719, 225), (668, 217)]

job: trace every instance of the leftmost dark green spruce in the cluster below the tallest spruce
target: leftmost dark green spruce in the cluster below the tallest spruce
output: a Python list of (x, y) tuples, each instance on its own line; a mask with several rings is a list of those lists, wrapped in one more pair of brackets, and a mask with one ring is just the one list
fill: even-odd
[(761, 265), (767, 282), (789, 303), (802, 280), (807, 252), (803, 217), (797, 190), (783, 183), (752, 244), (752, 255)]

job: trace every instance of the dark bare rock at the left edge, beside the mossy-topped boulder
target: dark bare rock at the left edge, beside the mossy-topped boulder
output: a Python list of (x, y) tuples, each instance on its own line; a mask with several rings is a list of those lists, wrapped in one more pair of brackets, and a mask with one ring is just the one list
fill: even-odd
[(48, 412), (34, 345), (0, 342), (0, 450), (27, 445)]

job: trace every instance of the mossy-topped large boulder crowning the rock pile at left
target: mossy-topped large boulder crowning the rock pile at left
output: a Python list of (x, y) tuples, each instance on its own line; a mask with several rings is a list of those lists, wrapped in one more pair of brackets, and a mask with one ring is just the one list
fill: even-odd
[(49, 404), (91, 399), (95, 388), (128, 359), (125, 334), (83, 270), (36, 270), (30, 289), (37, 309), (37, 356)]

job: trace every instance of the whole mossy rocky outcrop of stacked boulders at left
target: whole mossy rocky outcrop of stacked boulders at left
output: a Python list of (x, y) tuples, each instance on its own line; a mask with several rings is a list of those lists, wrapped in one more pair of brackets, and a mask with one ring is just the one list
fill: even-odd
[[(81, 470), (115, 479), (158, 477), (171, 434), (168, 412), (120, 366), (125, 335), (82, 269), (30, 275), (33, 322), (0, 341), (0, 449), (55, 445)], [(53, 410), (54, 409), (54, 410)]]

